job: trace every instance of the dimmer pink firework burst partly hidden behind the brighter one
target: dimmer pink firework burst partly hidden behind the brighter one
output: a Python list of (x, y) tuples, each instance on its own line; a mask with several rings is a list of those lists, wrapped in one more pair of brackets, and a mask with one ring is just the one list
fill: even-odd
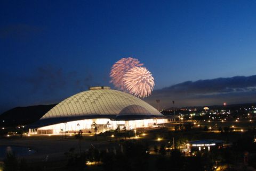
[(111, 67), (110, 83), (113, 83), (116, 88), (124, 90), (124, 74), (133, 67), (142, 65), (138, 59), (132, 57), (120, 59)]

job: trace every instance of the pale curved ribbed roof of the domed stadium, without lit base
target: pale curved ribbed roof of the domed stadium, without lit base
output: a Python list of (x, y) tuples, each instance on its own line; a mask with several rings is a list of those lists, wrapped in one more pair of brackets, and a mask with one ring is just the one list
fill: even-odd
[(163, 116), (147, 102), (117, 90), (95, 89), (71, 96), (53, 107), (41, 119), (117, 115)]

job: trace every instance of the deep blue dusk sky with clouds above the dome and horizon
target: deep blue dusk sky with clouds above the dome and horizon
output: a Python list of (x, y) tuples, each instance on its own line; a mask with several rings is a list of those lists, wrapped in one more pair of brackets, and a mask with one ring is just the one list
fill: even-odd
[(1, 1), (0, 113), (114, 88), (110, 68), (130, 56), (153, 73), (151, 105), (256, 102), (255, 9), (255, 1)]

